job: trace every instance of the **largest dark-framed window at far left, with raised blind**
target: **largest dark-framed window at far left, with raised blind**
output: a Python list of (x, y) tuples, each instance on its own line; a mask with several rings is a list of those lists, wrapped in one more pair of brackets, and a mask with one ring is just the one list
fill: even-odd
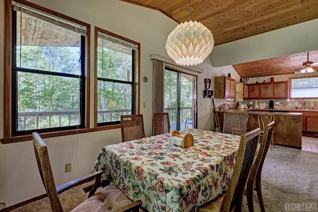
[(11, 132), (84, 127), (86, 27), (12, 5)]

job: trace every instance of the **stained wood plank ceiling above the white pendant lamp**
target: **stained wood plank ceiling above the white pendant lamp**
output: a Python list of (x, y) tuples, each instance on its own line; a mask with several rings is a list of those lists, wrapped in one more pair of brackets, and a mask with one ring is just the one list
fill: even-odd
[[(188, 0), (122, 0), (189, 19)], [(318, 0), (191, 0), (191, 20), (213, 34), (215, 45), (318, 18)]]

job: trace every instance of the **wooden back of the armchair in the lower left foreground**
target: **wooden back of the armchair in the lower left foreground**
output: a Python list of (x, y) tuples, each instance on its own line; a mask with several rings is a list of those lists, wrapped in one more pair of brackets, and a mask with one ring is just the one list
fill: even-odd
[(52, 212), (63, 212), (53, 178), (47, 146), (37, 133), (32, 133), (32, 137), (36, 161), (43, 185), (48, 194)]

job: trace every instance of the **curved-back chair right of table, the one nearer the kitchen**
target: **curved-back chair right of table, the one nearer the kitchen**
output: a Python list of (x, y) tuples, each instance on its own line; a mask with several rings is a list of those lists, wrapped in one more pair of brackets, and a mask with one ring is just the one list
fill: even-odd
[(247, 205), (248, 211), (254, 211), (253, 205), (253, 192), (257, 192), (258, 203), (260, 206), (261, 212), (265, 212), (263, 196), (262, 196), (262, 187), (261, 187), (261, 175), (262, 175), (262, 168), (264, 164), (264, 160), (268, 151), (268, 147), (271, 143), (271, 138), (274, 131), (275, 122), (272, 121), (268, 125), (265, 125), (264, 134), (261, 139), (260, 147), (252, 169), (250, 171), (248, 180), (247, 180), (247, 187), (246, 187), (246, 197), (247, 197)]

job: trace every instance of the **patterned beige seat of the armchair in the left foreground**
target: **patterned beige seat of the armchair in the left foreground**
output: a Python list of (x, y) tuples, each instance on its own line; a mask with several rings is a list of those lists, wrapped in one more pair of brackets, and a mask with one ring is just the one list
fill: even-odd
[(79, 204), (71, 212), (123, 212), (129, 207), (136, 204), (141, 205), (141, 203), (140, 200), (133, 202), (118, 187), (110, 184)]

